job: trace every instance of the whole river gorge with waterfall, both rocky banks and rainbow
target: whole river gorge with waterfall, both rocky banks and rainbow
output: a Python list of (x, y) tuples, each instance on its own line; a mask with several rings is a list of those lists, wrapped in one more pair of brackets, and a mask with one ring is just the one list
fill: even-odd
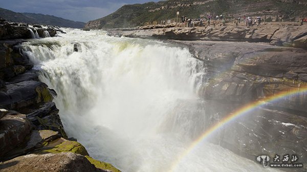
[[(31, 38), (27, 27), (3, 27)], [(251, 41), (256, 29), (249, 39), (229, 27), (42, 28), (51, 37), (3, 40), (0, 170), (48, 159), (58, 171), (304, 171), (304, 28), (272, 29), (261, 42)], [(209, 39), (221, 32), (239, 37)], [(265, 168), (262, 155), (296, 155), (303, 167)]]

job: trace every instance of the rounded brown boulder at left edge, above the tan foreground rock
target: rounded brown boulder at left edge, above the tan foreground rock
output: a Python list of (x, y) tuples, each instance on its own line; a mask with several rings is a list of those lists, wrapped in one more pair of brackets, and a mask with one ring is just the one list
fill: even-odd
[(0, 119), (0, 157), (22, 143), (30, 130), (26, 115), (11, 112)]

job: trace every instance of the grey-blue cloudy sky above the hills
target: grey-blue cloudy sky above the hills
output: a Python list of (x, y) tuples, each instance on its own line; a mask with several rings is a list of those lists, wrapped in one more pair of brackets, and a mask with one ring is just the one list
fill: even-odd
[(15, 12), (49, 14), (88, 22), (111, 14), (124, 4), (158, 2), (157, 0), (0, 0), (0, 7)]

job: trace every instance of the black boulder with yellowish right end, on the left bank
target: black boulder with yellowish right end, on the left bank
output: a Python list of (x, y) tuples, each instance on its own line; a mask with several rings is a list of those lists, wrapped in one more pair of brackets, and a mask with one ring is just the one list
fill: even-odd
[(8, 109), (20, 109), (29, 105), (50, 102), (53, 97), (45, 83), (23, 81), (6, 85), (6, 91), (0, 91), (0, 104)]

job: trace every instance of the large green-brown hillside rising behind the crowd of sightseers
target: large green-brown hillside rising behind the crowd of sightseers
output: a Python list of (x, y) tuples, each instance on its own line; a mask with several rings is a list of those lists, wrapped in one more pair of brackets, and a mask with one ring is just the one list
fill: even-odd
[(124, 5), (116, 12), (86, 23), (86, 29), (128, 28), (161, 20), (176, 20), (185, 15), (189, 18), (204, 17), (208, 13), (233, 16), (257, 16), (268, 20), (295, 20), (307, 16), (305, 0), (169, 0), (158, 3)]

